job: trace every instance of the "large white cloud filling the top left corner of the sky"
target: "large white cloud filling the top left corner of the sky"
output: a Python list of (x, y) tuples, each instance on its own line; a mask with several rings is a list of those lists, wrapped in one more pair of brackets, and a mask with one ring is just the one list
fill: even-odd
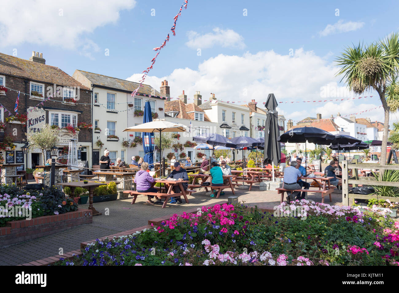
[[(21, 43), (81, 49), (90, 57), (98, 45), (85, 42), (85, 35), (106, 24), (116, 23), (120, 10), (132, 9), (135, 0), (3, 0), (0, 45)], [(82, 37), (83, 36), (83, 37)], [(87, 46), (89, 45), (89, 46)]]

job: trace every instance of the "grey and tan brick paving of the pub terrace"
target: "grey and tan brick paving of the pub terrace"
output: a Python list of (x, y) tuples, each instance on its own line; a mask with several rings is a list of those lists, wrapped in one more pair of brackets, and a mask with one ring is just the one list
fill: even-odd
[[(235, 189), (235, 195), (239, 197), (239, 202), (245, 202), (245, 205), (248, 206), (257, 205), (260, 208), (268, 209), (273, 209), (274, 206), (280, 204), (280, 195), (277, 194), (277, 191), (261, 191), (257, 185), (253, 185), (251, 191)], [(181, 214), (192, 208), (200, 208), (203, 205), (227, 200), (227, 197), (232, 195), (231, 191), (225, 189), (225, 195), (216, 199), (206, 196), (205, 192), (197, 191), (188, 197), (189, 204), (184, 203), (183, 200), (184, 204), (182, 205), (168, 204), (166, 208), (161, 208), (160, 205), (144, 205), (146, 199), (144, 196), (138, 197), (134, 205), (130, 205), (132, 201), (130, 198), (95, 203), (95, 208), (103, 214), (93, 216), (93, 223), (0, 249), (0, 265), (18, 265), (47, 258), (59, 254), (61, 248), (64, 253), (79, 250), (81, 242), (144, 226), (148, 224), (150, 219), (173, 213)], [(318, 193), (308, 193), (308, 198), (321, 202)], [(332, 193), (332, 203), (330, 203), (328, 197), (326, 197), (325, 203), (341, 205), (342, 193)], [(89, 205), (80, 206), (87, 208)], [(109, 215), (105, 214), (107, 208), (109, 208)]]

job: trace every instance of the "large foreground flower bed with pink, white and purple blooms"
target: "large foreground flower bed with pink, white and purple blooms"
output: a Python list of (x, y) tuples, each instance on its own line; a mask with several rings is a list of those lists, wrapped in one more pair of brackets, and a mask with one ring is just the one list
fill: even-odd
[[(287, 216), (296, 208), (302, 217)], [(385, 216), (305, 200), (279, 209), (223, 204), (174, 214), (152, 229), (97, 239), (56, 265), (399, 264), (399, 223)]]

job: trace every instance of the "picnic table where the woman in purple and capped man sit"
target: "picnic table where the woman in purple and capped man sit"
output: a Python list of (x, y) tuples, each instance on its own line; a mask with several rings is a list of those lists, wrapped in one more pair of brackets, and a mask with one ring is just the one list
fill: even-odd
[[(186, 203), (188, 203), (188, 198), (187, 198), (187, 193), (192, 193), (194, 191), (190, 191), (190, 190), (184, 190), (183, 188), (183, 183), (188, 183), (189, 181), (178, 181), (178, 180), (171, 180), (171, 179), (166, 179), (166, 180), (162, 180), (162, 179), (155, 179), (154, 183), (152, 183), (152, 188), (154, 188), (155, 183), (163, 183), (165, 184), (165, 190), (167, 189), (166, 193), (162, 193), (162, 188), (158, 187), (160, 189), (159, 192), (140, 192), (140, 191), (132, 191), (132, 190), (124, 190), (123, 193), (128, 193), (130, 195), (133, 196), (133, 200), (132, 200), (132, 205), (136, 202), (137, 196), (140, 194), (143, 195), (154, 195), (158, 198), (164, 198), (164, 204), (162, 205), (162, 208), (166, 207), (166, 204), (168, 203), (168, 199), (170, 197), (179, 197), (179, 196), (183, 196), (184, 200), (186, 201)], [(179, 193), (175, 193), (174, 192), (174, 186), (179, 186), (180, 187), (180, 192)]]

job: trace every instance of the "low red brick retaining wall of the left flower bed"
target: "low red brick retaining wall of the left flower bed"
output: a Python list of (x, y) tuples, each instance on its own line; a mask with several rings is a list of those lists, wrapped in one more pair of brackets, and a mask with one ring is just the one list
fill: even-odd
[(6, 223), (6, 226), (0, 227), (0, 248), (91, 222), (93, 222), (91, 210), (83, 208), (65, 214), (41, 216), (31, 220), (10, 221)]

